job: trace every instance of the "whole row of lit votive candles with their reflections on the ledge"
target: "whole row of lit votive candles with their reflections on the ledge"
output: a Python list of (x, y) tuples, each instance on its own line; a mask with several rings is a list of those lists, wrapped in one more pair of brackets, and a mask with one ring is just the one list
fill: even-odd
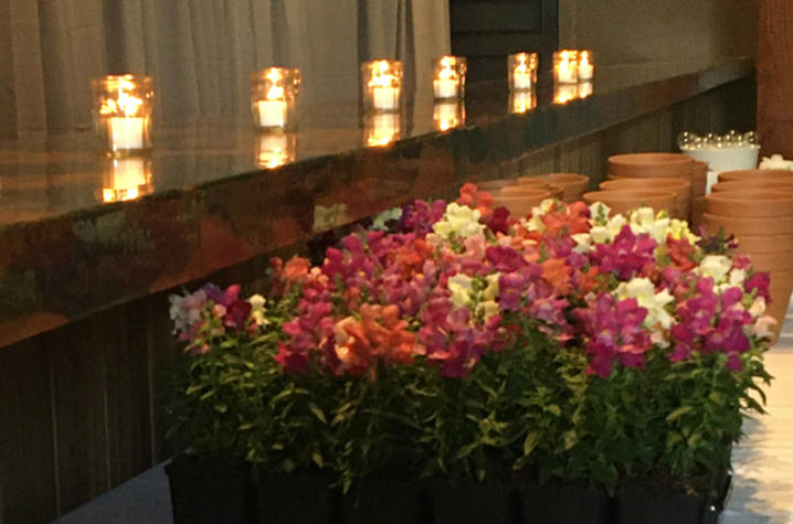
[[(537, 53), (508, 56), (509, 111), (526, 113), (537, 106)], [(445, 131), (464, 125), (466, 60), (443, 56), (435, 63), (433, 93), (435, 128)], [(592, 93), (592, 53), (563, 50), (553, 54), (554, 101), (563, 104)], [(401, 136), (402, 64), (377, 60), (361, 65), (364, 145), (384, 146)], [(107, 76), (93, 82), (97, 103), (95, 127), (110, 157), (114, 182), (102, 200), (133, 200), (151, 190), (150, 160), (154, 88), (150, 77)], [(256, 164), (275, 168), (296, 156), (299, 69), (268, 67), (251, 76), (254, 125), (264, 131), (256, 143)]]

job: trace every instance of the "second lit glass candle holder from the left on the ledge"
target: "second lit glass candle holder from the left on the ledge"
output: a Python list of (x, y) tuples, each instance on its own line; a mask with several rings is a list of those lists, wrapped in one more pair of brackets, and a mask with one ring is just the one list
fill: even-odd
[(253, 125), (258, 129), (297, 129), (300, 69), (267, 67), (251, 75)]

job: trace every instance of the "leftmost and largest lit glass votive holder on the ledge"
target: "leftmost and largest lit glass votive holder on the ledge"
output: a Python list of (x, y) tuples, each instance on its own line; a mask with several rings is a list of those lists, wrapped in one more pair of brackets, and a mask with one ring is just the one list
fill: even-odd
[(112, 157), (151, 148), (154, 88), (150, 76), (109, 75), (91, 82), (94, 127)]

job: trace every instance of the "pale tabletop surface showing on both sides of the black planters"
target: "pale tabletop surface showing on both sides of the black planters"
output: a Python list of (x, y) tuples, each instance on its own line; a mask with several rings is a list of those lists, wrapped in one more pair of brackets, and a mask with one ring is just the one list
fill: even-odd
[[(721, 524), (793, 523), (793, 301), (782, 338), (766, 354), (775, 377), (769, 415), (744, 423), (732, 455), (734, 482)], [(57, 524), (171, 524), (165, 463), (105, 493)]]

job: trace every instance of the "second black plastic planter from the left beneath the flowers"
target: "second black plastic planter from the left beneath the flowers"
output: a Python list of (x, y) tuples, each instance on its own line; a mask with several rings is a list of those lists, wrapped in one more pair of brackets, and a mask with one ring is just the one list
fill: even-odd
[(337, 491), (318, 472), (260, 473), (256, 506), (261, 524), (329, 524), (335, 521)]

